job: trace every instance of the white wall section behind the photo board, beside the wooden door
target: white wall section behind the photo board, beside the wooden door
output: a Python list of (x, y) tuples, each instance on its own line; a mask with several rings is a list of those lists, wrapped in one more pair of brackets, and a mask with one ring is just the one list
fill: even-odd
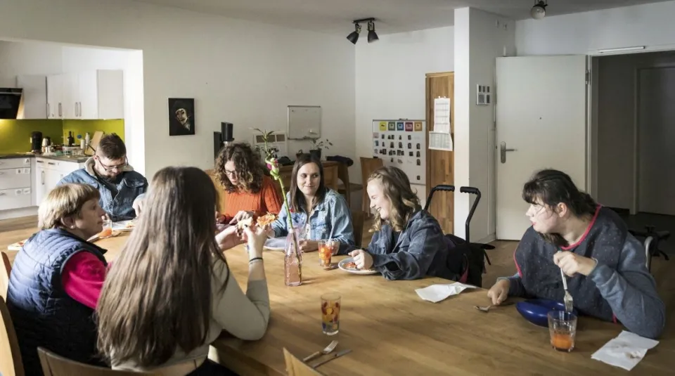
[[(453, 53), (453, 27), (387, 34), (375, 43), (356, 44), (357, 160), (350, 180), (361, 181), (358, 158), (373, 156), (373, 119), (426, 119), (425, 74), (451, 72)], [(414, 188), (424, 205), (426, 187)]]

